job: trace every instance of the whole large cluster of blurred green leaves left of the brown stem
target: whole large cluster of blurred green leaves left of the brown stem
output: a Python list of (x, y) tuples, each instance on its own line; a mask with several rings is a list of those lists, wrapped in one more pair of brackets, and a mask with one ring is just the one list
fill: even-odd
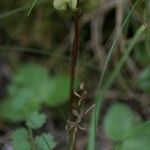
[(42, 104), (57, 107), (69, 97), (69, 76), (49, 76), (48, 71), (36, 64), (21, 66), (13, 75), (8, 97), (0, 103), (0, 118), (18, 122), (38, 111)]

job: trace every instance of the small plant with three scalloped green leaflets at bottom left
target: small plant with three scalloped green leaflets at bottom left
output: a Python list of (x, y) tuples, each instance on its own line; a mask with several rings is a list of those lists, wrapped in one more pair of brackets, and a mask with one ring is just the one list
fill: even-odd
[(52, 150), (56, 146), (50, 133), (33, 135), (33, 130), (40, 129), (46, 122), (46, 116), (34, 112), (26, 119), (26, 127), (14, 131), (11, 135), (13, 150)]

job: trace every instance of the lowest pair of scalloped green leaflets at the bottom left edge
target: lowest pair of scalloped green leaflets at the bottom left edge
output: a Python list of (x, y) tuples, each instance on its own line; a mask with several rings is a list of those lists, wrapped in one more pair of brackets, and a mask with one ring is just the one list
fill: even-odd
[(13, 150), (52, 150), (56, 146), (50, 133), (30, 138), (25, 128), (17, 129), (11, 135)]

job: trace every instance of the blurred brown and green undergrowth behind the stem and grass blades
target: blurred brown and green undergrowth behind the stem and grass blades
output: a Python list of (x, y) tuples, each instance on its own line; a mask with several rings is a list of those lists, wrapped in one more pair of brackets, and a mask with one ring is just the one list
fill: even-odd
[[(30, 114), (40, 111), (47, 116), (41, 131), (50, 132), (58, 141), (64, 136), (56, 149), (65, 150), (74, 15), (69, 9), (55, 10), (51, 0), (38, 0), (28, 16), (32, 3), (32, 0), (0, 0), (0, 149), (11, 150), (10, 134), (24, 127)], [(97, 150), (110, 150), (116, 145), (120, 150), (150, 147), (149, 0), (137, 3), (122, 29), (135, 3), (136, 0), (80, 2), (77, 78), (87, 91), (87, 109), (95, 103), (100, 76), (114, 41), (102, 86), (131, 46), (140, 26), (146, 28), (131, 47), (101, 104)], [(89, 114), (82, 124), (86, 130), (79, 130), (76, 141), (79, 150), (87, 148)], [(128, 136), (135, 133), (135, 127), (140, 130)]]

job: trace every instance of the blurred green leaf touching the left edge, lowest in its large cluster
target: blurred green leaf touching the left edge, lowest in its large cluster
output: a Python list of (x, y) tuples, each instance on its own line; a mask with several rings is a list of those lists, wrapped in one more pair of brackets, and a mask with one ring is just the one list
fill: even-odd
[(23, 121), (31, 113), (40, 109), (40, 102), (33, 91), (23, 89), (16, 97), (8, 98), (0, 104), (0, 118), (12, 122)]

